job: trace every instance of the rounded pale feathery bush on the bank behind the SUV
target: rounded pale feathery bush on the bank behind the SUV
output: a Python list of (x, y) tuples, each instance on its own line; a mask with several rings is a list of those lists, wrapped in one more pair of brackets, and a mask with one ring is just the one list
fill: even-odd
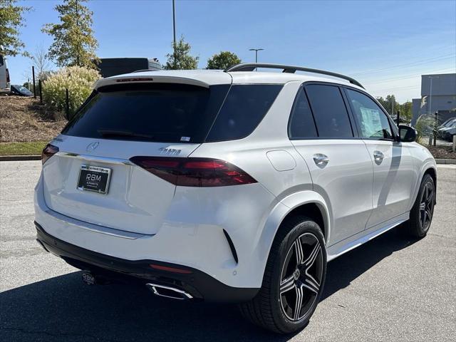
[(68, 89), (70, 115), (83, 104), (92, 92), (93, 83), (101, 78), (98, 71), (79, 66), (61, 68), (48, 76), (43, 84), (43, 100), (47, 105), (64, 111)]

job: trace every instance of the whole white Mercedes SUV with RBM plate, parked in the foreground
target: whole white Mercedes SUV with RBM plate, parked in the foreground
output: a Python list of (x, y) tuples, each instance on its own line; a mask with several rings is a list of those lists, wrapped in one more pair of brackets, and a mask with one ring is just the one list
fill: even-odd
[(38, 242), (89, 284), (239, 303), (289, 333), (314, 313), (327, 261), (403, 222), (427, 233), (436, 167), (414, 140), (327, 71), (105, 78), (43, 150)]

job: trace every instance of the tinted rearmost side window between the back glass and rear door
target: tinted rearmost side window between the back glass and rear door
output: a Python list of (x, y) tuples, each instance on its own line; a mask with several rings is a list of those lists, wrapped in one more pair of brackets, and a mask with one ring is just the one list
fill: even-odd
[(281, 88), (275, 84), (232, 86), (206, 141), (247, 137), (264, 118)]

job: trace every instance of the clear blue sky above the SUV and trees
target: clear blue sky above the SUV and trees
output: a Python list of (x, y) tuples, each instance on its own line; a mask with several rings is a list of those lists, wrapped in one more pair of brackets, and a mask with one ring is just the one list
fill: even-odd
[[(28, 51), (48, 46), (41, 33), (58, 21), (61, 1), (21, 1), (21, 39)], [(172, 2), (93, 0), (98, 56), (156, 57), (171, 51)], [(191, 43), (199, 68), (219, 51), (259, 61), (346, 73), (375, 96), (400, 102), (420, 97), (420, 75), (456, 72), (456, 1), (176, 1), (177, 36)], [(13, 83), (28, 77), (31, 61), (9, 58)], [(54, 66), (55, 68), (55, 66)]]

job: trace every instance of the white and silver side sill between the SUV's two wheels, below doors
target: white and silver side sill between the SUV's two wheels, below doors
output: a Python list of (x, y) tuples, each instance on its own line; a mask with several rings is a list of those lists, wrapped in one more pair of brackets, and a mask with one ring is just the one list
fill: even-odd
[[(366, 234), (363, 235), (362, 237), (359, 237), (358, 239), (346, 242), (345, 244), (342, 244), (342, 242), (338, 242), (337, 244), (333, 244), (333, 246), (328, 247), (328, 261), (331, 261), (333, 259), (336, 259), (340, 257), (342, 254), (345, 254), (346, 252), (350, 252), (352, 249), (355, 249), (356, 247), (361, 246), (361, 244), (365, 244), (368, 241), (371, 241), (372, 239), (375, 239), (375, 237), (378, 237), (379, 235), (388, 232), (388, 230), (393, 229), (394, 227), (397, 227), (399, 224), (405, 222), (408, 220), (409, 213), (402, 214), (398, 217), (395, 217), (395, 221), (387, 224), (384, 227), (381, 227), (380, 229), (375, 229), (375, 227), (371, 229), (375, 229), (369, 234), (366, 234), (366, 231), (359, 232), (358, 234)], [(368, 229), (368, 230), (371, 230)], [(356, 235), (358, 235), (356, 234)], [(355, 235), (355, 237), (356, 237)], [(348, 238), (351, 239), (351, 238)], [(340, 247), (338, 245), (342, 244)]]

